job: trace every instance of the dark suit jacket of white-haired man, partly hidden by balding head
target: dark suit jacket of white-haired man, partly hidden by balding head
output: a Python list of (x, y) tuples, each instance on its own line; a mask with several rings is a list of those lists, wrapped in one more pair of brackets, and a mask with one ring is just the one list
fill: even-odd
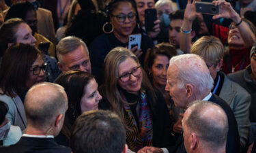
[[(229, 123), (229, 131), (227, 133), (227, 144), (226, 144), (226, 152), (227, 153), (239, 153), (240, 152), (240, 137), (238, 133), (238, 123), (236, 122), (236, 118), (233, 115), (233, 112), (229, 105), (220, 97), (212, 94), (212, 97), (208, 100), (212, 101), (220, 105), (225, 113), (227, 114), (227, 120)], [(184, 147), (184, 139), (183, 135), (180, 135), (176, 141), (176, 145), (173, 147), (167, 148), (169, 153), (186, 153)]]

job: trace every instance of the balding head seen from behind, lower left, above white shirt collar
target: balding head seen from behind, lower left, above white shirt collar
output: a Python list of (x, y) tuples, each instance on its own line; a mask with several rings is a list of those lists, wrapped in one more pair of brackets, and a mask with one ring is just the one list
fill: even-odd
[(41, 83), (33, 86), (25, 97), (27, 131), (33, 129), (43, 135), (58, 135), (68, 109), (64, 88), (58, 84)]

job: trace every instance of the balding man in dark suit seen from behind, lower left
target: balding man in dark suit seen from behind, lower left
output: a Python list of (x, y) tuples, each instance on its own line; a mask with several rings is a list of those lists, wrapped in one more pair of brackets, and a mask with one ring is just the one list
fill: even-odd
[(53, 139), (59, 134), (68, 109), (63, 87), (53, 83), (37, 84), (27, 92), (24, 106), (25, 134), (16, 144), (0, 148), (0, 152), (70, 153), (70, 148), (59, 146)]

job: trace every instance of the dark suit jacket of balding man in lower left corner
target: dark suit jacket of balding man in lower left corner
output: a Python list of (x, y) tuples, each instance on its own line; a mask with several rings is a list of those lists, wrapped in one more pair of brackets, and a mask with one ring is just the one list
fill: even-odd
[(71, 149), (59, 146), (53, 138), (21, 137), (11, 146), (0, 147), (4, 153), (70, 153)]

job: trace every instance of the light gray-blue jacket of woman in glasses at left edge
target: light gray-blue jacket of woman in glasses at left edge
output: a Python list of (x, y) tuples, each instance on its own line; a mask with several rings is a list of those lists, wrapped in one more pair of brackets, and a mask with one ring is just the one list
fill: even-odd
[(7, 103), (9, 107), (6, 117), (11, 121), (12, 125), (20, 126), (21, 131), (27, 127), (27, 118), (23, 102), (18, 95), (14, 98), (7, 95), (0, 95), (0, 101)]

